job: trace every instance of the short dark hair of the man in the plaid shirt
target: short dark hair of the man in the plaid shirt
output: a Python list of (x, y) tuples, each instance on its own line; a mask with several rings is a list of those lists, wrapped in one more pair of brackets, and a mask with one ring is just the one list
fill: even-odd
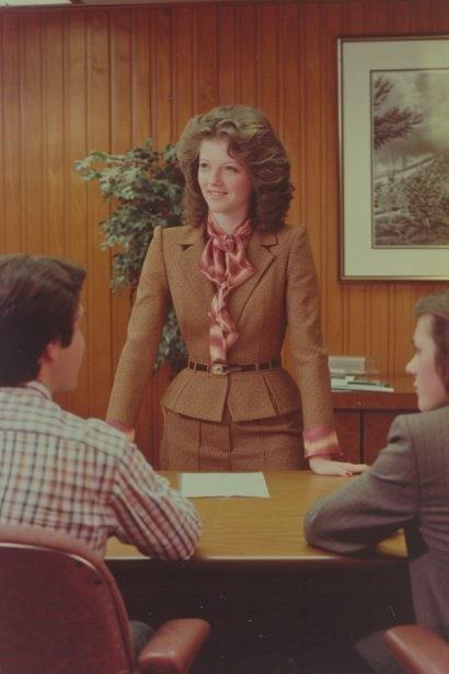
[(0, 386), (35, 379), (46, 346), (69, 346), (85, 271), (64, 260), (0, 255)]

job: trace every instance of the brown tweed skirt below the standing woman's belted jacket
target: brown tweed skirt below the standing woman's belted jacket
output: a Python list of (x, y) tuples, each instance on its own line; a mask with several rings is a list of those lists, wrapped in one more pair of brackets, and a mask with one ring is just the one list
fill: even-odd
[(268, 419), (220, 423), (166, 410), (162, 470), (295, 470), (303, 456), (299, 411)]

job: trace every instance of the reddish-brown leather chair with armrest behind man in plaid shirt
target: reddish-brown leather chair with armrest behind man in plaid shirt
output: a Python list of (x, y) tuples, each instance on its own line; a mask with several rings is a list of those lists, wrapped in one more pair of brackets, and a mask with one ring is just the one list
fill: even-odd
[(187, 674), (209, 631), (205, 620), (170, 620), (136, 658), (99, 555), (58, 532), (0, 526), (0, 672)]

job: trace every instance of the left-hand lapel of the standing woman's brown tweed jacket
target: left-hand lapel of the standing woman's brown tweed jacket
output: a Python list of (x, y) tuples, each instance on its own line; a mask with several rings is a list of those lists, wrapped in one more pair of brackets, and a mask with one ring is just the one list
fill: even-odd
[(179, 241), (177, 261), (182, 270), (185, 283), (189, 285), (192, 289), (192, 298), (195, 298), (209, 309), (210, 302), (214, 297), (214, 285), (211, 282), (199, 271), (199, 258), (205, 247), (204, 242), (204, 228), (189, 228), (185, 231), (183, 238)]

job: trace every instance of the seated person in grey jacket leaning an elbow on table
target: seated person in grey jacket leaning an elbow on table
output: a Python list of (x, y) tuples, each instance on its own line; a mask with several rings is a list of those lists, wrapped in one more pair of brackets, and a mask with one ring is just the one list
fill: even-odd
[[(398, 416), (371, 468), (319, 500), (308, 541), (350, 555), (404, 527), (416, 621), (449, 637), (449, 292), (416, 305), (415, 379), (422, 413)], [(396, 672), (381, 635), (357, 644), (376, 672)]]

